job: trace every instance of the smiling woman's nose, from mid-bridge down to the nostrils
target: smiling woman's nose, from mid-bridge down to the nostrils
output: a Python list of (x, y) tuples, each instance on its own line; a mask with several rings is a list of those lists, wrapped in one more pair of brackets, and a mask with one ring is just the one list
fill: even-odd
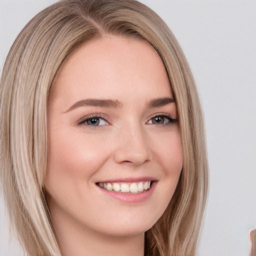
[(140, 125), (127, 125), (121, 128), (116, 140), (114, 160), (140, 165), (152, 159), (152, 151), (146, 132)]

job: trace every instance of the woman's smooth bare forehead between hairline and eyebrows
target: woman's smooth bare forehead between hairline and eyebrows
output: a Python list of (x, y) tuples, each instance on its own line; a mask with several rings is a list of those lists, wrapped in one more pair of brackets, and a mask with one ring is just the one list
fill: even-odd
[(84, 96), (145, 98), (170, 96), (165, 67), (145, 40), (120, 36), (97, 38), (76, 49), (61, 67), (51, 97), (69, 102)]

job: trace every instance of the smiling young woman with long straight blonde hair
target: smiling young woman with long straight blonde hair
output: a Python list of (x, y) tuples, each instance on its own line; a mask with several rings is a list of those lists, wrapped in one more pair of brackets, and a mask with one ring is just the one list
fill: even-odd
[(28, 255), (194, 255), (202, 114), (174, 36), (134, 0), (66, 0), (1, 77), (1, 180)]

